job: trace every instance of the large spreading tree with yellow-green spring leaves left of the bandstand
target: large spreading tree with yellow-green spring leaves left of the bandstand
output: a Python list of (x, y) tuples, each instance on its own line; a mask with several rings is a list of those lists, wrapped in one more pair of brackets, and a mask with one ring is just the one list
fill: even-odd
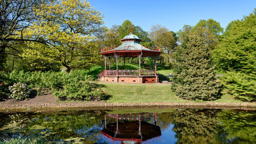
[(39, 17), (27, 29), (28, 37), (38, 35), (47, 45), (28, 43), (23, 57), (58, 62), (70, 72), (86, 68), (99, 61), (100, 49), (94, 42), (95, 35), (105, 30), (102, 15), (89, 2), (62, 0), (42, 4), (35, 10)]

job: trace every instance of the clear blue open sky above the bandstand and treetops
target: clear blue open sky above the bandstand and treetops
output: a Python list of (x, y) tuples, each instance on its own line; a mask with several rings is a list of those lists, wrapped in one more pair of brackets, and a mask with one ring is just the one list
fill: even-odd
[(176, 32), (183, 25), (195, 26), (200, 19), (212, 18), (226, 28), (256, 8), (256, 0), (88, 0), (104, 14), (105, 26), (120, 25), (129, 19), (135, 26), (150, 31), (161, 24)]

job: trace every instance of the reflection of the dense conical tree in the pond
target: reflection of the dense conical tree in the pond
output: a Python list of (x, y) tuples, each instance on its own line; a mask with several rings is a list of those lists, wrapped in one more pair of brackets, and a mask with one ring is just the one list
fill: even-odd
[(216, 109), (176, 110), (172, 113), (176, 143), (215, 143), (215, 134), (221, 127)]

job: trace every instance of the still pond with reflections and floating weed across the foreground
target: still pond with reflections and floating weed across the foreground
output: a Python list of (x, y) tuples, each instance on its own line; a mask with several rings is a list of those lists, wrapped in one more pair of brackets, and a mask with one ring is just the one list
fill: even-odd
[(0, 137), (49, 143), (256, 143), (256, 110), (131, 109), (0, 113)]

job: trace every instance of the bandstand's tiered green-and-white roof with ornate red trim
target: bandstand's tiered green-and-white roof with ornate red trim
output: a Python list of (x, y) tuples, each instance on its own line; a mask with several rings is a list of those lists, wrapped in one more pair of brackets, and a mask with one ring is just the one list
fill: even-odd
[(105, 47), (101, 48), (102, 55), (105, 56), (122, 56), (122, 57), (142, 57), (158, 56), (161, 54), (160, 47), (149, 47), (146, 48), (140, 44), (141, 39), (137, 35), (130, 32), (122, 40), (123, 43), (118, 47)]

